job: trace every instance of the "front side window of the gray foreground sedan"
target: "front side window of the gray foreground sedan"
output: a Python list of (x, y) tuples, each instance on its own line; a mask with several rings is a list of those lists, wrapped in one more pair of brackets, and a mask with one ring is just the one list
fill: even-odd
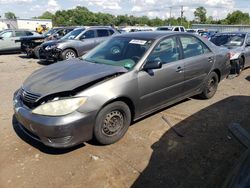
[(148, 57), (148, 61), (160, 61), (162, 64), (178, 61), (179, 59), (180, 48), (175, 37), (163, 39)]

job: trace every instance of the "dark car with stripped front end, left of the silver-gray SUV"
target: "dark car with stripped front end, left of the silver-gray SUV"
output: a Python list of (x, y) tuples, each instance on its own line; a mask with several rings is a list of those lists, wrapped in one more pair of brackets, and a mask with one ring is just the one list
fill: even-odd
[(56, 27), (40, 36), (21, 37), (17, 42), (21, 42), (21, 51), (28, 57), (37, 57), (40, 45), (49, 40), (58, 40), (74, 30), (76, 27)]

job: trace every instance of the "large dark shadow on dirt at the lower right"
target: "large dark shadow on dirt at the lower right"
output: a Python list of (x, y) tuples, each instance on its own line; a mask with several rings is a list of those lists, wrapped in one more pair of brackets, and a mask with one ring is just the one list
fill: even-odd
[(250, 131), (249, 112), (250, 97), (233, 96), (182, 120), (174, 129), (184, 137), (170, 129), (154, 143), (148, 166), (132, 187), (221, 187), (245, 150), (228, 125)]

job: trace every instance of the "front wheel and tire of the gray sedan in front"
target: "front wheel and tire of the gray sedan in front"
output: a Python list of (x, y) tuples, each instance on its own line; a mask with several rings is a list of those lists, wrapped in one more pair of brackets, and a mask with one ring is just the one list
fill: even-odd
[(124, 136), (130, 122), (131, 112), (124, 102), (108, 104), (97, 115), (94, 137), (100, 144), (113, 144)]

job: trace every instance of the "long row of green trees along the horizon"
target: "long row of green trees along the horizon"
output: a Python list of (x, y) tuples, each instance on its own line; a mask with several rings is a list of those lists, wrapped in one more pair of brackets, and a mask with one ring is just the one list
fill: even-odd
[(204, 7), (198, 7), (195, 12), (195, 21), (189, 22), (184, 18), (150, 19), (147, 16), (118, 15), (114, 16), (107, 13), (93, 13), (87, 8), (78, 6), (74, 9), (60, 10), (55, 14), (44, 12), (38, 18), (52, 19), (54, 26), (75, 26), (75, 25), (116, 25), (116, 26), (162, 26), (162, 25), (183, 25), (186, 28), (192, 23), (207, 24), (250, 24), (248, 13), (235, 11), (227, 15), (225, 19), (214, 20), (212, 16), (207, 17), (207, 10)]

